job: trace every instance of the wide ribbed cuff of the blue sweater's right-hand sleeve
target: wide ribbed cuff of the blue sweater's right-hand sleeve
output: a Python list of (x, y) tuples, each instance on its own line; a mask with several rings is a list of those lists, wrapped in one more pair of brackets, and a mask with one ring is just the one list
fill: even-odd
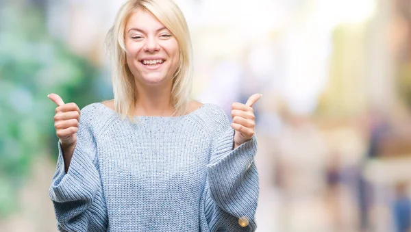
[(208, 181), (212, 199), (224, 211), (247, 217), (248, 229), (256, 228), (254, 216), (258, 201), (258, 172), (253, 163), (257, 151), (256, 136), (232, 150), (234, 130), (228, 130), (208, 164)]

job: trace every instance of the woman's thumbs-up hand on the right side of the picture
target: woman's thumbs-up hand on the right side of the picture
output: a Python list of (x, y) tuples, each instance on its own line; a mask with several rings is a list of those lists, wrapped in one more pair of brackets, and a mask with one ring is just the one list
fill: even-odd
[(260, 99), (261, 94), (253, 94), (249, 97), (247, 103), (233, 103), (231, 127), (234, 133), (234, 149), (244, 142), (251, 140), (255, 133), (256, 116), (254, 116), (253, 105)]

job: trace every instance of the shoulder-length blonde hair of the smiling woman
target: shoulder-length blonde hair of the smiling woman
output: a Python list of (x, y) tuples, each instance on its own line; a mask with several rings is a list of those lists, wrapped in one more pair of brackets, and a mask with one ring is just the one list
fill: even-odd
[(171, 103), (174, 107), (173, 116), (182, 116), (188, 112), (192, 88), (192, 47), (186, 19), (172, 0), (129, 0), (117, 13), (105, 38), (105, 49), (112, 68), (114, 110), (122, 118), (128, 116), (134, 121), (137, 90), (134, 75), (126, 64), (124, 32), (128, 19), (138, 9), (153, 14), (169, 29), (179, 44), (179, 63), (173, 75)]

